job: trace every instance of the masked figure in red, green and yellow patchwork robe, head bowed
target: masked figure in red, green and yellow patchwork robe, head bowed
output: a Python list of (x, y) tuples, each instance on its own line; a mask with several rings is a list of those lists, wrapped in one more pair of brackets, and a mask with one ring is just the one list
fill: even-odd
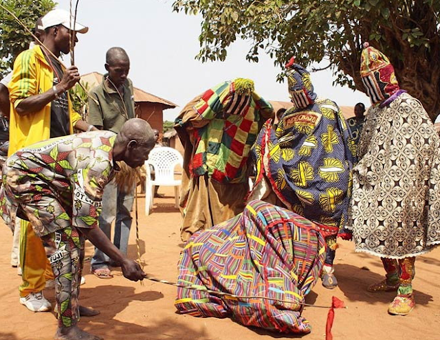
[(181, 111), (175, 128), (185, 148), (182, 240), (243, 212), (250, 148), (272, 115), (254, 82), (242, 78), (218, 84)]

